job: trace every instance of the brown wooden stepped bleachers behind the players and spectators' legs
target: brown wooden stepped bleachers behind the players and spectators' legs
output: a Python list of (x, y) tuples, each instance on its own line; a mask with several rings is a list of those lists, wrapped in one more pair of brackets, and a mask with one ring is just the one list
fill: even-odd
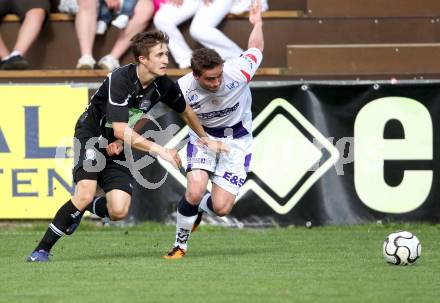
[[(391, 72), (433, 75), (440, 71), (436, 65), (440, 20), (435, 17), (440, 15), (440, 0), (357, 0), (356, 5), (352, 0), (270, 0), (269, 5), (271, 10), (263, 14), (266, 43), (258, 79), (322, 78), (323, 75), (334, 78)], [(304, 15), (306, 6), (308, 14)], [(247, 17), (247, 14), (228, 15), (219, 26), (242, 48), (247, 45), (251, 28)], [(79, 57), (74, 17), (52, 13), (50, 20), (26, 56), (33, 70), (0, 72), (0, 82), (19, 79), (78, 82), (105, 77), (106, 71), (74, 69)], [(3, 21), (0, 31), (10, 46), (15, 41), (19, 19), (7, 15)], [(200, 47), (189, 35), (189, 22), (181, 29), (190, 47)], [(96, 38), (96, 59), (109, 52), (117, 34), (110, 27), (106, 35)], [(393, 48), (399, 49), (398, 54), (393, 53)], [(121, 58), (121, 64), (131, 61), (130, 54)], [(172, 77), (186, 72), (175, 69), (172, 60), (169, 67)]]

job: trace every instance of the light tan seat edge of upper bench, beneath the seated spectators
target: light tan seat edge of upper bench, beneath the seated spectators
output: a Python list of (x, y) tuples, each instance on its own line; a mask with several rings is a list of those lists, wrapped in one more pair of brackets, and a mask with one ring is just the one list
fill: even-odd
[[(298, 18), (304, 16), (304, 12), (301, 10), (269, 10), (263, 12), (264, 19), (284, 19), (284, 18)], [(233, 15), (228, 14), (227, 19), (247, 19), (249, 17), (248, 13)], [(75, 16), (63, 13), (51, 13), (49, 20), (54, 22), (72, 22), (75, 20)], [(2, 19), (2, 22), (20, 22), (17, 15), (8, 14)]]

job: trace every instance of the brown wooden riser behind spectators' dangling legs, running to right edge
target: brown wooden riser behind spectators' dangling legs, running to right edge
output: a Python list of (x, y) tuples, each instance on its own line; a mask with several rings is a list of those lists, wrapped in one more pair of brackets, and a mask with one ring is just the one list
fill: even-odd
[[(440, 0), (439, 0), (440, 2)], [(18, 22), (0, 26), (6, 45), (14, 47), (19, 31)], [(189, 33), (189, 23), (180, 27), (192, 49), (201, 47)], [(251, 25), (247, 19), (229, 19), (219, 28), (241, 48), (249, 40)], [(110, 26), (105, 35), (97, 36), (93, 54), (96, 60), (111, 52), (119, 30)], [(287, 67), (288, 44), (354, 44), (354, 43), (437, 43), (440, 42), (440, 22), (432, 18), (289, 18), (266, 19), (265, 49), (262, 67)], [(63, 51), (60, 52), (59, 50)], [(49, 22), (26, 54), (32, 69), (74, 69), (80, 57), (73, 22)], [(121, 64), (133, 61), (131, 52), (121, 57)], [(169, 68), (176, 64), (170, 56)]]

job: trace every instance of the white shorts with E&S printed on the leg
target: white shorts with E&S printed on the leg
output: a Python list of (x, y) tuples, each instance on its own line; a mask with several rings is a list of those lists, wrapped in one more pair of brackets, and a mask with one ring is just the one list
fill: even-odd
[(230, 151), (227, 154), (216, 154), (190, 136), (187, 147), (187, 171), (202, 169), (210, 172), (211, 181), (233, 195), (238, 195), (240, 187), (246, 181), (252, 157), (251, 135), (238, 139), (214, 138), (225, 142)]

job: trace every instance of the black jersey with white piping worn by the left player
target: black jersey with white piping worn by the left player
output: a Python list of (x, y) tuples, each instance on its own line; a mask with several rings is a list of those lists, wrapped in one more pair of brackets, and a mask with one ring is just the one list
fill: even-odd
[(126, 122), (130, 127), (155, 104), (163, 102), (178, 113), (186, 103), (180, 88), (168, 76), (156, 78), (143, 88), (137, 77), (136, 64), (128, 64), (110, 73), (76, 124), (75, 137), (102, 136), (115, 140), (112, 122)]

